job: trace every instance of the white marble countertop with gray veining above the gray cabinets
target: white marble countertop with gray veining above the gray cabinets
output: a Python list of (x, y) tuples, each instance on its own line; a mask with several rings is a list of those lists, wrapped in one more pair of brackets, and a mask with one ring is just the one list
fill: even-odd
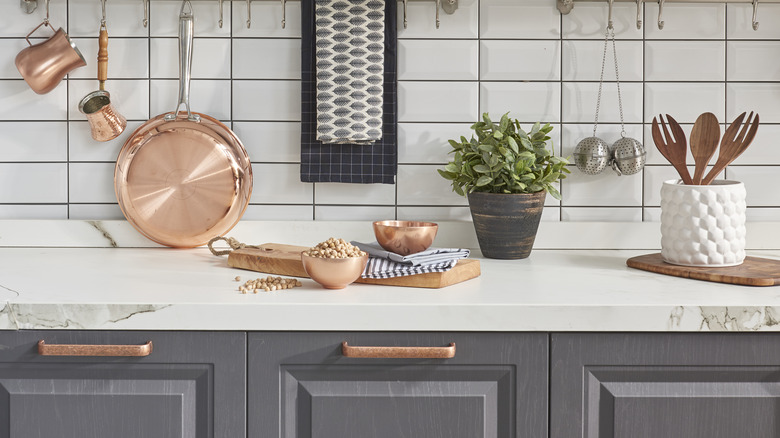
[[(264, 274), (205, 248), (0, 248), (0, 329), (780, 331), (780, 287), (628, 268), (652, 250), (540, 250), (443, 289), (353, 284), (241, 294)], [(778, 250), (750, 255), (780, 258)]]

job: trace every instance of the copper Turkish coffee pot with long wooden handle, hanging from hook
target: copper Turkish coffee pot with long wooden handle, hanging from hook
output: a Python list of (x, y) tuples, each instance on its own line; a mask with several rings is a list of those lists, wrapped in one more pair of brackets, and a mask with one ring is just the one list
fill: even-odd
[(100, 21), (98, 38), (98, 82), (97, 91), (93, 91), (79, 102), (79, 111), (87, 116), (92, 138), (97, 141), (113, 140), (125, 130), (127, 119), (111, 105), (111, 94), (105, 90), (108, 79), (108, 31), (106, 30), (106, 2), (103, 3), (103, 19)]

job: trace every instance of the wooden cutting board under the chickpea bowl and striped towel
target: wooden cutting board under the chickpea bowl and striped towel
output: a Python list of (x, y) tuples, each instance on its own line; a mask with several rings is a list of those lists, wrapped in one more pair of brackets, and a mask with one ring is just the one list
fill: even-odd
[[(228, 266), (291, 277), (309, 277), (303, 269), (301, 251), (305, 246), (264, 243), (260, 248), (243, 248), (228, 255)], [(359, 278), (356, 283), (441, 288), (479, 277), (479, 260), (462, 259), (447, 272), (430, 272), (395, 278)]]

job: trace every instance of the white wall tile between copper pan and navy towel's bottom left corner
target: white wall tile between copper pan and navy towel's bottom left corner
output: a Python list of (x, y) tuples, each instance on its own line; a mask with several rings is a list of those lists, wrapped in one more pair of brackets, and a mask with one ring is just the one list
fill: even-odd
[(253, 164), (252, 204), (311, 204), (314, 184), (301, 182), (298, 164)]

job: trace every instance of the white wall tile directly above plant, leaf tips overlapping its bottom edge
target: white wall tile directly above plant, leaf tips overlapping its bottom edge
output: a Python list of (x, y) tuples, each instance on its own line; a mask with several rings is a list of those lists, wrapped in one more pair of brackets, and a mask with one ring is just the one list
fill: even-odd
[(482, 82), (479, 108), (498, 120), (502, 114), (523, 123), (561, 120), (561, 85), (558, 82)]

